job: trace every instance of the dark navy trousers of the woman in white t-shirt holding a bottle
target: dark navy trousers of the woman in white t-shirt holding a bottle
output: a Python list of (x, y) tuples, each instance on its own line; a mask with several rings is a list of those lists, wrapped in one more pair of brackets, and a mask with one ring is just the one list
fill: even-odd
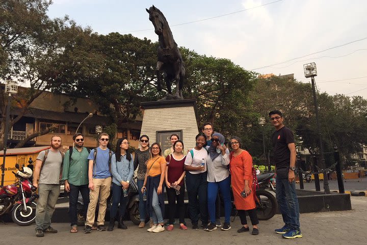
[(203, 224), (207, 224), (207, 173), (191, 174), (186, 172), (186, 188), (189, 198), (189, 214), (192, 224), (197, 224), (200, 219)]

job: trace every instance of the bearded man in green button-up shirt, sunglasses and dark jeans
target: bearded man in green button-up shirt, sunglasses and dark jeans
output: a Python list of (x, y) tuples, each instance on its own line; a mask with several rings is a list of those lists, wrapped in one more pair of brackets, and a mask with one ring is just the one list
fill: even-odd
[(83, 147), (84, 136), (81, 133), (74, 134), (72, 139), (75, 146), (65, 153), (62, 180), (65, 180), (65, 190), (69, 192), (70, 233), (76, 233), (78, 231), (76, 204), (79, 192), (83, 197), (84, 217), (86, 217), (89, 204), (89, 151)]

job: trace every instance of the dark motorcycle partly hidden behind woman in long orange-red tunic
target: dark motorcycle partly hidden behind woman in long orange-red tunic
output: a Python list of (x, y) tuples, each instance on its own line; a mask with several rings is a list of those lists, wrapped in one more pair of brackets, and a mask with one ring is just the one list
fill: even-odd
[(272, 218), (277, 210), (278, 203), (274, 195), (267, 189), (275, 191), (271, 179), (274, 178), (274, 173), (266, 173), (257, 176), (258, 188), (256, 189), (256, 196), (258, 200), (256, 202), (257, 217), (259, 220), (268, 220)]

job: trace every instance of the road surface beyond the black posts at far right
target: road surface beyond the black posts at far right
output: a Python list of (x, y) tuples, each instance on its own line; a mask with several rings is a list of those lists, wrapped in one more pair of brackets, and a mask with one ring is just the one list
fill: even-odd
[[(349, 191), (367, 190), (367, 178), (349, 179), (349, 180), (345, 180), (343, 183), (344, 183), (345, 190), (349, 190)], [(303, 183), (303, 185), (306, 190), (315, 189), (314, 181), (310, 183)], [(324, 190), (324, 182), (320, 181), (320, 187), (321, 187), (321, 190)], [(300, 188), (299, 184), (296, 184), (296, 188), (297, 189)], [(329, 180), (329, 188), (330, 190), (338, 190), (339, 188), (338, 188), (337, 181)]]

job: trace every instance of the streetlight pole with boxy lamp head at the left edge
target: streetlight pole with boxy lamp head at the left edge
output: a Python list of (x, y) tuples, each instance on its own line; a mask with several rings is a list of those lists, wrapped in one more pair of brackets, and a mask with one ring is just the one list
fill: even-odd
[(8, 101), (7, 101), (7, 112), (5, 119), (5, 130), (4, 130), (4, 155), (3, 155), (3, 165), (2, 165), (2, 181), (1, 186), (4, 186), (4, 178), (5, 178), (5, 157), (6, 150), (8, 144), (8, 133), (9, 133), (9, 120), (10, 120), (10, 102), (11, 102), (11, 94), (16, 94), (18, 92), (18, 86), (14, 81), (7, 81), (5, 85), (5, 92), (8, 93)]

